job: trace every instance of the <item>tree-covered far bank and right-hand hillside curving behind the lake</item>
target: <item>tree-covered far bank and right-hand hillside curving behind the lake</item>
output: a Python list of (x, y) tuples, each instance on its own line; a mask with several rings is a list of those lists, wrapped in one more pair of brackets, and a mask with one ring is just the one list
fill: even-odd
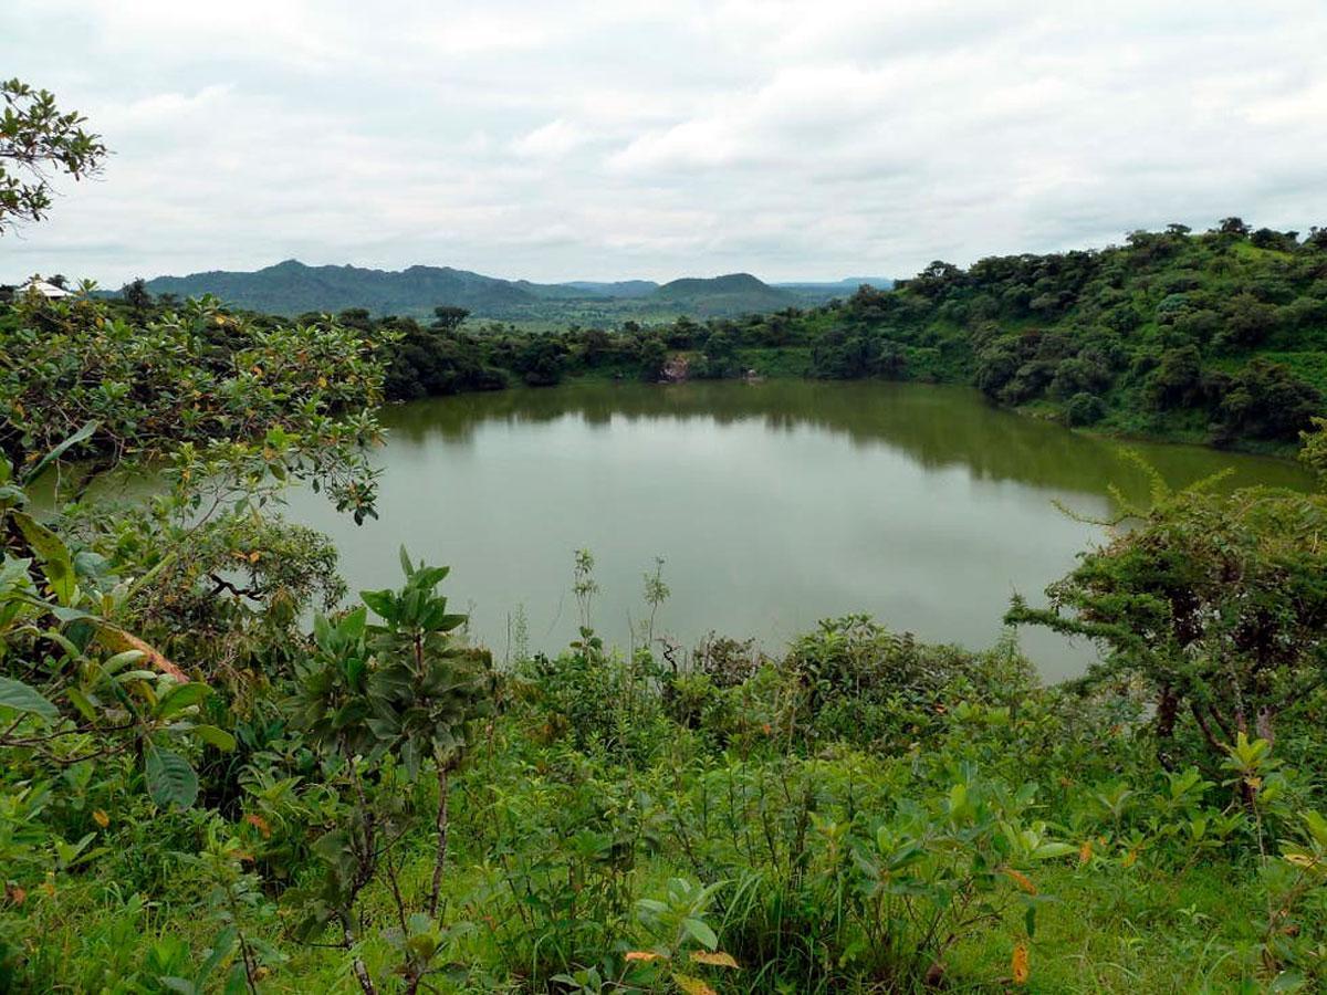
[[(751, 277), (656, 295), (725, 280), (727, 300), (751, 300)], [(681, 358), (670, 375), (966, 383), (1075, 427), (1283, 451), (1324, 410), (1327, 232), (1172, 226), (1100, 251), (933, 263), (892, 291), (705, 321), (536, 333), (453, 306), (427, 324), (364, 308), (341, 318), (394, 340), (393, 399), (575, 375), (653, 381)]]

